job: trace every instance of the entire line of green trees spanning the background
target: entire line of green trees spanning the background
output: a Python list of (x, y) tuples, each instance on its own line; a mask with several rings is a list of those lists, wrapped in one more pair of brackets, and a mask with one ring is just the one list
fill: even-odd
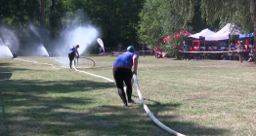
[(107, 47), (154, 46), (180, 30), (217, 31), (228, 22), (244, 33), (256, 32), (254, 0), (1, 0), (0, 23), (17, 31), (21, 41), (28, 39), (22, 29), (29, 22), (48, 29), (52, 39), (73, 23), (91, 24), (100, 28)]

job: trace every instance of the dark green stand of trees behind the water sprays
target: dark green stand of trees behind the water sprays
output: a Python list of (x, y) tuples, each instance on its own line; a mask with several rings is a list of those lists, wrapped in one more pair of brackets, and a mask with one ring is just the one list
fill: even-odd
[[(25, 29), (29, 22), (40, 26), (41, 0), (0, 0), (0, 23), (12, 26), (21, 41), (29, 39)], [(138, 17), (145, 0), (44, 0), (45, 28), (51, 37), (70, 24), (93, 24), (101, 30), (108, 47), (119, 42), (138, 41)], [(24, 45), (24, 44), (22, 44)]]

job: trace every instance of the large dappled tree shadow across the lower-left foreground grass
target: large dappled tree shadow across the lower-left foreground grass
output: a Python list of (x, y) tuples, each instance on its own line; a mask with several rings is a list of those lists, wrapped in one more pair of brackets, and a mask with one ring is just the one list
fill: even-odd
[[(141, 106), (131, 104), (123, 108), (95, 104), (93, 101), (97, 97), (70, 95), (80, 92), (85, 95), (82, 92), (107, 87), (115, 90), (113, 84), (8, 80), (16, 70), (25, 69), (5, 68), (0, 72), (0, 76), (9, 73), (0, 83), (0, 135), (169, 135), (149, 119)], [(174, 111), (180, 104), (154, 103), (148, 105), (154, 116), (178, 132), (188, 135), (221, 135), (228, 131), (205, 128), (192, 122), (178, 122), (175, 119), (180, 117), (176, 116), (158, 115), (162, 111)], [(77, 110), (77, 106), (84, 108)]]

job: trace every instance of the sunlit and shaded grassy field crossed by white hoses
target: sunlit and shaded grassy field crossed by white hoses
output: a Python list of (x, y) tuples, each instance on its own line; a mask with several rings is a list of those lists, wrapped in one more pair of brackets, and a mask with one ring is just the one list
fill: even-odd
[[(170, 135), (153, 123), (136, 90), (122, 107), (114, 84), (47, 57), (0, 58), (1, 136)], [(79, 59), (79, 70), (112, 78), (116, 56)], [(149, 110), (185, 135), (256, 135), (252, 62), (140, 56), (138, 83)]]

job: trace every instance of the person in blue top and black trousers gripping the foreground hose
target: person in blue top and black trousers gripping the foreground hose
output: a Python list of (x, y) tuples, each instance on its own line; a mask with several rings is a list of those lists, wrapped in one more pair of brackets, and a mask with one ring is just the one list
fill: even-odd
[[(134, 52), (133, 46), (129, 46), (127, 51), (121, 53), (113, 63), (113, 78), (118, 88), (118, 94), (123, 101), (123, 106), (128, 106), (125, 92), (123, 90), (123, 82), (127, 86), (126, 92), (129, 103), (134, 103), (132, 97), (132, 84), (133, 73), (137, 75), (139, 55)], [(132, 72), (132, 67), (134, 71)]]

